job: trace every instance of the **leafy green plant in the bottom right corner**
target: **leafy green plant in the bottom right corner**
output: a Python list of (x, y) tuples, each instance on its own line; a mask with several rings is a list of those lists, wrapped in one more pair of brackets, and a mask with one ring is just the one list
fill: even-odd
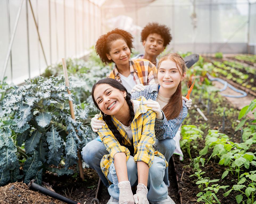
[[(249, 204), (249, 203), (256, 204), (256, 201), (255, 201), (256, 174), (255, 174), (255, 172), (256, 171), (250, 171), (250, 173), (246, 172), (246, 173), (241, 174), (241, 179), (237, 183), (237, 185), (233, 185), (232, 189), (230, 189), (229, 191), (224, 193), (224, 196), (228, 196), (232, 190), (235, 190), (235, 191), (239, 191), (242, 193), (242, 194), (239, 194), (236, 196), (237, 203), (241, 203), (241, 201), (243, 201), (243, 195), (245, 195), (247, 197), (247, 200), (244, 200), (242, 202), (243, 204), (245, 202), (247, 204)], [(245, 184), (245, 185), (243, 185), (243, 184)], [(245, 188), (245, 190), (242, 190), (244, 188)]]

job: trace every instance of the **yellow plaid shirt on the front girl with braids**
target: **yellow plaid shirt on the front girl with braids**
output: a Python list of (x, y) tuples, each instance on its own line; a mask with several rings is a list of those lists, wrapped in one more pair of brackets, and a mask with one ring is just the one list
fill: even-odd
[[(153, 163), (154, 156), (158, 156), (165, 160), (166, 166), (168, 163), (160, 152), (155, 151), (153, 145), (155, 143), (155, 117), (156, 113), (148, 108), (146, 105), (143, 105), (143, 101), (146, 101), (146, 98), (141, 96), (137, 98), (140, 100), (139, 108), (135, 113), (135, 117), (131, 123), (131, 130), (133, 132), (133, 144), (131, 144), (130, 139), (127, 136), (126, 131), (123, 129), (120, 122), (118, 122), (114, 116), (112, 116), (112, 121), (117, 127), (117, 130), (124, 138), (124, 144), (134, 146), (134, 161), (139, 162), (143, 161), (150, 167)], [(102, 119), (102, 114), (100, 113), (99, 120)], [(98, 134), (100, 135), (101, 141), (106, 146), (106, 149), (110, 154), (104, 155), (101, 159), (101, 170), (104, 175), (107, 177), (109, 172), (109, 167), (112, 162), (114, 162), (114, 155), (118, 152), (125, 152), (127, 160), (130, 156), (130, 151), (128, 148), (121, 146), (117, 141), (112, 131), (108, 126), (103, 126), (103, 128), (98, 129)]]

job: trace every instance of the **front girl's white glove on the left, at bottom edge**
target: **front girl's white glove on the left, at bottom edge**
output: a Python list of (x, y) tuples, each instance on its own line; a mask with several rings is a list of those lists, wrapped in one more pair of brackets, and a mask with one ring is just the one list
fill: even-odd
[(117, 186), (119, 188), (119, 204), (134, 204), (130, 181), (121, 181)]

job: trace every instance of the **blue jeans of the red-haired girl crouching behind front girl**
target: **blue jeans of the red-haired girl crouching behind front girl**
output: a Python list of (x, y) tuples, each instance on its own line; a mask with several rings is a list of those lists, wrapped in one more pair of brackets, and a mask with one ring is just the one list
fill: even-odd
[[(164, 155), (167, 162), (169, 162), (176, 148), (174, 139), (156, 139), (153, 147), (155, 150), (161, 152)], [(94, 139), (82, 148), (81, 154), (84, 161), (92, 169), (96, 170), (104, 185), (106, 187), (109, 187), (108, 180), (106, 179), (100, 168), (100, 161), (102, 157), (106, 154), (109, 154), (109, 152), (106, 150), (105, 145), (102, 142)], [(169, 187), (170, 182), (168, 180), (168, 167), (165, 169), (164, 183)]]

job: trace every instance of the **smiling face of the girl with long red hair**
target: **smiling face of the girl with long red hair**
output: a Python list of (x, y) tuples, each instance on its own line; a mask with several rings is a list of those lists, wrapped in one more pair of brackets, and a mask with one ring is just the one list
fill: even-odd
[(186, 72), (181, 73), (180, 67), (174, 61), (164, 60), (157, 72), (158, 82), (165, 90), (176, 91), (180, 81), (186, 76)]

